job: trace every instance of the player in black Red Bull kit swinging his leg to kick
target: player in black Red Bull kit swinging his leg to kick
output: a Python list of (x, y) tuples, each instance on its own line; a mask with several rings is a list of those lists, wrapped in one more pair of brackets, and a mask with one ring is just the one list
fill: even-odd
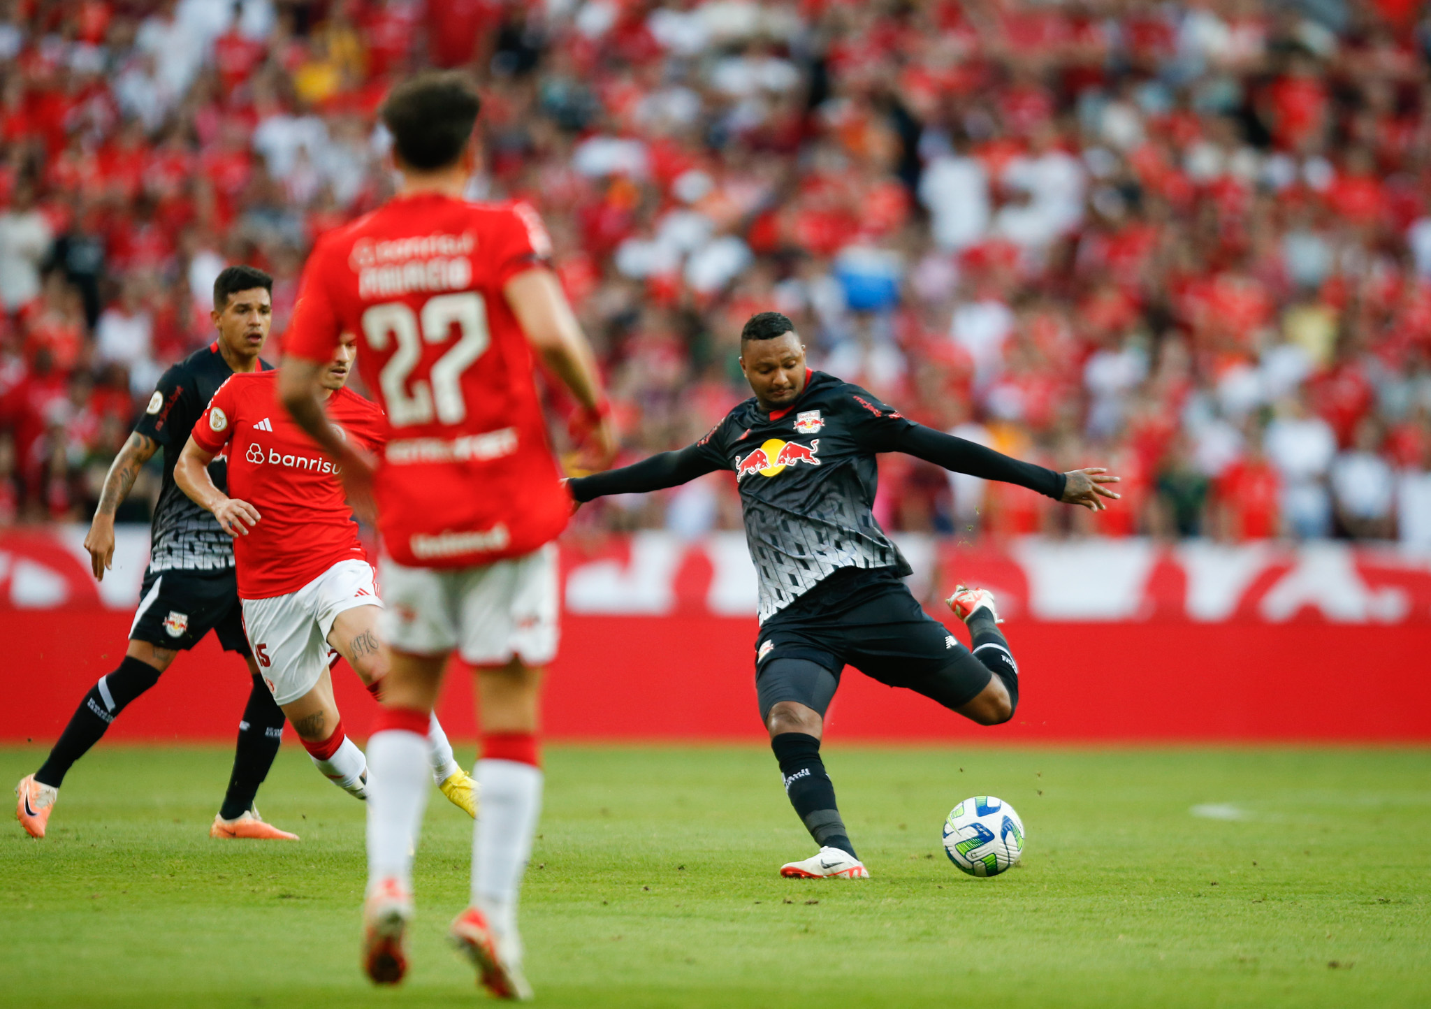
[(756, 395), (678, 452), (568, 481), (578, 502), (675, 487), (733, 469), (760, 580), (756, 693), (786, 794), (820, 850), (781, 876), (863, 879), (820, 760), (824, 711), (846, 664), (907, 687), (983, 726), (1013, 717), (1019, 667), (999, 633), (993, 594), (949, 600), (970, 651), (929, 617), (900, 578), (909, 562), (874, 521), (877, 452), (906, 452), (956, 472), (1019, 484), (1092, 510), (1116, 498), (1105, 469), (1058, 472), (914, 424), (857, 385), (806, 368), (778, 312), (741, 332)]

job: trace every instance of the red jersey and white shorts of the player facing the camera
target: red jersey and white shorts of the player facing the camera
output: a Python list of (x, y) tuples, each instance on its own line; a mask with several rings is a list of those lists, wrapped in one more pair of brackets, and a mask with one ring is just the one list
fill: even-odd
[[(333, 462), (278, 402), (278, 372), (233, 375), (209, 401), (193, 439), (218, 455), (228, 447), (229, 495), (259, 512), (235, 537), (243, 625), (273, 700), (306, 694), (328, 667), (328, 633), (343, 610), (382, 605), (358, 522)], [(328, 418), (379, 451), (382, 411), (356, 392), (329, 396)]]

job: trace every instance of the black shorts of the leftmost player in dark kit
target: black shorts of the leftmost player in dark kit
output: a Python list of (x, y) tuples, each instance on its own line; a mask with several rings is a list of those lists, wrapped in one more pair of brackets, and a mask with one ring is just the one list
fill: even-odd
[(225, 651), (249, 654), (233, 568), (223, 571), (145, 571), (130, 641), (186, 651), (213, 631)]

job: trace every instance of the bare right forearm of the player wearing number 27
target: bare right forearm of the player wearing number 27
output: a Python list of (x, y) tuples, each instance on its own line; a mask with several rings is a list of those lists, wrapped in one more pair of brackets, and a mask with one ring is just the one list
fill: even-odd
[(581, 405), (582, 468), (605, 469), (617, 457), (615, 428), (595, 355), (555, 275), (548, 269), (522, 270), (507, 282), (502, 293), (527, 341)]

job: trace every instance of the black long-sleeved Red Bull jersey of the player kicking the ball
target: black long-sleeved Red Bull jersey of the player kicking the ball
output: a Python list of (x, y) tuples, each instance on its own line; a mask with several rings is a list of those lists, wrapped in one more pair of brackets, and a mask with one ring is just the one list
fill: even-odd
[(810, 372), (804, 391), (784, 409), (767, 414), (751, 396), (680, 452), (572, 479), (570, 487), (577, 501), (590, 501), (733, 469), (764, 623), (841, 568), (910, 574), (873, 512), (874, 455), (893, 451), (1053, 498), (1063, 494), (1063, 474), (923, 428), (859, 385), (824, 372)]

